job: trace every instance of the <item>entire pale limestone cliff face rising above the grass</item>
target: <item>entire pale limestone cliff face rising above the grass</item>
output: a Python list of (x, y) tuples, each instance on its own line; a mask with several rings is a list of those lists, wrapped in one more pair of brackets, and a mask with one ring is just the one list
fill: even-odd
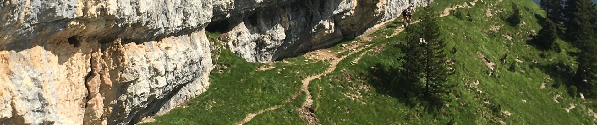
[(353, 38), (423, 0), (8, 0), (0, 124), (134, 124), (206, 91), (205, 29), (269, 62)]

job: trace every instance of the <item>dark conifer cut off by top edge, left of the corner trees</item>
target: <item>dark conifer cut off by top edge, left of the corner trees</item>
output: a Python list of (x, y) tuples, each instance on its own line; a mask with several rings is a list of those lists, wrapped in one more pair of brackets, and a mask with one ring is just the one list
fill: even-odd
[(543, 9), (549, 20), (554, 23), (560, 23), (562, 20), (562, 0), (541, 0), (541, 9)]

